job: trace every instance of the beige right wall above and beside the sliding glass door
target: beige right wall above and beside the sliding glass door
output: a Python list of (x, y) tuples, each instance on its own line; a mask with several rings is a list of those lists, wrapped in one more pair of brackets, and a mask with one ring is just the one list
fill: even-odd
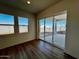
[(38, 18), (56, 15), (67, 10), (65, 52), (79, 59), (79, 0), (63, 0), (38, 14)]

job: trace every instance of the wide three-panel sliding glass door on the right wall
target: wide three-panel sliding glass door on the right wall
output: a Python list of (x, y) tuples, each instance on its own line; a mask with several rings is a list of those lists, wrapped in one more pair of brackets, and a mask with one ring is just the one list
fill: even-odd
[(40, 39), (55, 46), (65, 48), (67, 13), (39, 20)]

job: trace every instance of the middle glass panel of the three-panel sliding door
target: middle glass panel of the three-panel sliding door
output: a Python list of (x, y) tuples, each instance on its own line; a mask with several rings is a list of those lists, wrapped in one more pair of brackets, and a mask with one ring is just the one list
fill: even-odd
[(45, 41), (52, 43), (53, 17), (45, 19)]

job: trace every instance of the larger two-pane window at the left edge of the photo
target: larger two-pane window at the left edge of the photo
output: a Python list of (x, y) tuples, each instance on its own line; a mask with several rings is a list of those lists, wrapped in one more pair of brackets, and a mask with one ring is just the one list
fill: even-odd
[(0, 35), (14, 33), (14, 16), (0, 13)]

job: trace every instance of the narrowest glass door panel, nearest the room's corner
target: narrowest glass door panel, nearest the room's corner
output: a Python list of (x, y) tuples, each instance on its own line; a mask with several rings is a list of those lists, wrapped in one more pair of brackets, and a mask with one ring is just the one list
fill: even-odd
[(40, 19), (39, 20), (39, 30), (40, 30), (40, 32), (39, 32), (39, 38), (41, 40), (44, 40), (44, 30), (45, 30), (44, 24), (45, 24), (45, 20), (44, 19)]

